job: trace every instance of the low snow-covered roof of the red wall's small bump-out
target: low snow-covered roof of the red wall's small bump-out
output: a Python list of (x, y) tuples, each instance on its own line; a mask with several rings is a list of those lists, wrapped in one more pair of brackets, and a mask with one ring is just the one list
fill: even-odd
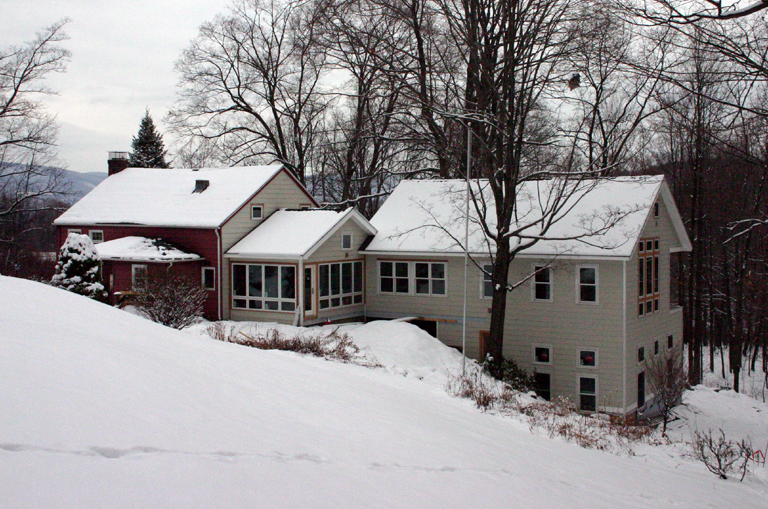
[(188, 262), (201, 260), (195, 253), (163, 239), (123, 237), (96, 245), (102, 260), (131, 262)]

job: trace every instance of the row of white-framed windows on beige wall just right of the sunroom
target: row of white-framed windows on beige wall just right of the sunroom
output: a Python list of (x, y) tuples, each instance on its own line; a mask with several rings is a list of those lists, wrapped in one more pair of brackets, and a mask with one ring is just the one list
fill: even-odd
[(446, 294), (444, 262), (379, 261), (379, 291), (415, 295)]

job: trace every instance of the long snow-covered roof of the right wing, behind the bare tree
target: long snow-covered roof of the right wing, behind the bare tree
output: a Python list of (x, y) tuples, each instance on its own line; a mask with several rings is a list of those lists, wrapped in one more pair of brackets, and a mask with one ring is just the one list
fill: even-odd
[[(485, 214), (489, 229), (496, 231), (493, 194), (482, 180), (473, 181), (472, 190), (476, 200), (470, 201), (469, 251), (488, 255), (495, 246), (478, 218)], [(521, 229), (522, 238), (512, 236), (510, 242), (514, 247), (540, 239), (519, 256), (627, 258), (660, 195), (685, 249), (690, 243), (682, 222), (675, 220), (679, 214), (661, 176), (526, 182), (518, 189), (512, 228)], [(371, 219), (378, 233), (366, 252), (463, 253), (465, 196), (463, 180), (401, 182)]]

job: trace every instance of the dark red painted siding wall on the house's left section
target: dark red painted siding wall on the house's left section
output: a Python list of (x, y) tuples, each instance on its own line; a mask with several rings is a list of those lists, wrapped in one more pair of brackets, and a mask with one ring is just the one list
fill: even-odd
[[(202, 267), (216, 268), (216, 282), (218, 285), (219, 273), (221, 267), (218, 266), (219, 239), (214, 229), (198, 228), (156, 228), (150, 226), (93, 226), (93, 225), (68, 225), (58, 226), (56, 228), (57, 245), (61, 247), (69, 234), (69, 230), (79, 229), (84, 235), (88, 235), (91, 230), (101, 230), (104, 232), (104, 241), (120, 239), (123, 237), (147, 237), (163, 238), (178, 244), (179, 246), (199, 254), (204, 258), (202, 262), (185, 262), (174, 264), (174, 269), (188, 273), (197, 280), (202, 280)], [(96, 245), (98, 249), (98, 244)], [(131, 288), (131, 265), (130, 262), (113, 262), (109, 264), (109, 274), (113, 274), (114, 288), (108, 288), (110, 298), (116, 291), (130, 290)], [(160, 265), (160, 264), (147, 264)], [(167, 265), (167, 264), (163, 264)], [(109, 274), (107, 274), (107, 264), (104, 267), (104, 282), (109, 285)], [(151, 267), (148, 267), (151, 271)], [(174, 272), (175, 272), (174, 270)], [(193, 274), (194, 272), (194, 274)], [(126, 279), (127, 278), (127, 279)], [(205, 316), (208, 319), (219, 318), (218, 286), (217, 289), (208, 292), (208, 300), (205, 303)]]

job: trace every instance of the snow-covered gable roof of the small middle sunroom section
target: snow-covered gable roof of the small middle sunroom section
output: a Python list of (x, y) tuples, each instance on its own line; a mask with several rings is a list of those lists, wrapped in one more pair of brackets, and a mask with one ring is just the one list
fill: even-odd
[(308, 257), (348, 220), (369, 235), (376, 229), (355, 209), (278, 210), (227, 251), (229, 257)]

